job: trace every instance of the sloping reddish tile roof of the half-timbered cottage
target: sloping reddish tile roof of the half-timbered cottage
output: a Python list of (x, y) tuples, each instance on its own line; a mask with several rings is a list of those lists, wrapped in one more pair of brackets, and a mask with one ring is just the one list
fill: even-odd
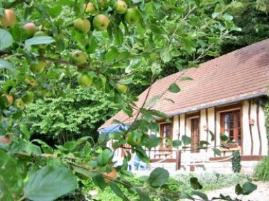
[[(166, 92), (152, 109), (173, 116), (265, 95), (269, 84), (269, 39), (217, 57), (198, 68), (161, 78), (152, 85), (148, 100), (154, 95), (161, 95), (180, 76), (191, 77), (193, 81), (177, 81), (181, 92)], [(139, 95), (137, 106), (142, 106), (148, 90)], [(114, 119), (127, 124), (133, 120), (120, 111), (100, 128), (111, 125)]]

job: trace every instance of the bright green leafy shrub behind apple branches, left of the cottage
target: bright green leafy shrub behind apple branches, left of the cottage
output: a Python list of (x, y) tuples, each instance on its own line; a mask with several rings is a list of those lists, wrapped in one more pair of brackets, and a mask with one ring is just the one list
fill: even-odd
[(24, 122), (34, 137), (64, 144), (85, 135), (97, 138), (97, 128), (116, 111), (109, 94), (92, 88), (67, 88), (57, 98), (27, 106)]

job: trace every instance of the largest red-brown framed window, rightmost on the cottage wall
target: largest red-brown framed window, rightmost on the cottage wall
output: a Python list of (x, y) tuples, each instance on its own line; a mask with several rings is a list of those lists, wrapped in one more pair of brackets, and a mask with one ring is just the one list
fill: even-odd
[(226, 134), (230, 141), (242, 142), (240, 110), (221, 113), (221, 134)]

